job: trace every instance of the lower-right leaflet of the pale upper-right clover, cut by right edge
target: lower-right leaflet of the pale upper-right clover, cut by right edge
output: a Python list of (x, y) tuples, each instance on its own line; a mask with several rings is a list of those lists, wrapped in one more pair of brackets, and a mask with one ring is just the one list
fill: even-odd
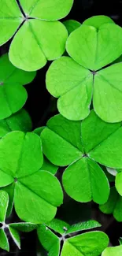
[(94, 76), (94, 110), (106, 122), (122, 120), (121, 69), (120, 62), (102, 69)]

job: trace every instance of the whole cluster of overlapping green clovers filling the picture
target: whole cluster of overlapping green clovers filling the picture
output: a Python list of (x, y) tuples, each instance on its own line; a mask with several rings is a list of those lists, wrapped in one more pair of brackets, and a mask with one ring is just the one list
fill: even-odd
[[(120, 256), (105, 232), (84, 232), (97, 221), (55, 218), (65, 190), (122, 221), (122, 28), (105, 16), (62, 21), (72, 6), (0, 1), (0, 46), (11, 39), (0, 58), (0, 247), (9, 251), (6, 229), (19, 248), (19, 231), (36, 229), (49, 256)], [(24, 85), (47, 61), (59, 113), (33, 130)], [(6, 224), (13, 206), (20, 222)]]

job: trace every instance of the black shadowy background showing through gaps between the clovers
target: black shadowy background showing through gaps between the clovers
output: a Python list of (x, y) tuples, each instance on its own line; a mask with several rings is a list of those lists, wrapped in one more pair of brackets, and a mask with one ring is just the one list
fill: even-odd
[[(9, 0), (8, 0), (9, 1)], [(122, 26), (122, 1), (117, 0), (74, 0), (71, 13), (68, 14), (64, 20), (73, 19), (78, 20), (80, 23), (86, 20), (88, 17), (94, 15), (106, 15)], [(10, 41), (9, 41), (10, 43)], [(0, 54), (5, 54), (9, 50), (9, 43), (0, 47)], [(56, 103), (57, 100), (50, 96), (46, 91), (45, 76), (46, 71), (50, 65), (47, 65), (37, 72), (35, 80), (26, 86), (28, 91), (28, 101), (25, 104), (25, 109), (31, 115), (33, 122), (33, 128), (43, 126), (46, 121), (57, 113)], [(62, 169), (57, 173), (58, 178), (61, 180)], [(90, 218), (95, 219), (102, 223), (102, 231), (105, 231), (109, 235), (110, 243), (114, 246), (118, 245), (118, 239), (122, 236), (122, 224), (117, 223), (113, 216), (107, 216), (98, 210), (98, 206), (93, 202), (90, 203), (79, 203), (75, 202), (67, 195), (65, 195), (64, 205), (61, 206), (57, 211), (57, 217), (61, 218), (68, 223), (76, 223), (78, 221), (84, 221)], [(10, 221), (15, 221), (16, 214), (13, 213)], [(9, 221), (9, 220), (8, 220)], [(9, 234), (8, 234), (9, 236)], [(36, 253), (36, 248), (39, 251), (42, 249), (37, 246), (37, 237), (35, 232), (28, 234), (21, 234), (21, 250), (13, 244), (9, 237), (10, 252), (0, 250), (0, 255), (11, 255), (11, 256), (42, 256), (43, 254)]]

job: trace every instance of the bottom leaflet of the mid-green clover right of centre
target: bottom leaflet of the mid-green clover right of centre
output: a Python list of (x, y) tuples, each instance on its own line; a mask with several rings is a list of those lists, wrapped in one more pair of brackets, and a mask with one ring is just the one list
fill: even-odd
[(67, 194), (78, 202), (94, 200), (104, 203), (109, 198), (109, 182), (105, 173), (89, 158), (82, 158), (69, 165), (62, 180)]

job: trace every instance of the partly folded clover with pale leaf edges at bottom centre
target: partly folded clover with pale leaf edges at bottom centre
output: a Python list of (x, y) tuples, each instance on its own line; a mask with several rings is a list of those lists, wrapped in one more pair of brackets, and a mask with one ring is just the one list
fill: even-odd
[(49, 255), (59, 256), (61, 252), (61, 256), (98, 256), (108, 246), (108, 236), (99, 231), (80, 235), (78, 232), (100, 226), (97, 221), (86, 221), (70, 226), (64, 221), (54, 219), (48, 224), (39, 225), (37, 232), (39, 241), (49, 251)]

